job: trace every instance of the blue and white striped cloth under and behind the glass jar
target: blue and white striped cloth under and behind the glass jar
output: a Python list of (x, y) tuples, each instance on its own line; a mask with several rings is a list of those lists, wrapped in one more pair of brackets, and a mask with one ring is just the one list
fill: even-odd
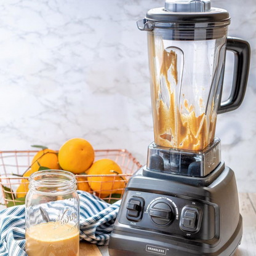
[[(120, 202), (108, 204), (90, 193), (78, 191), (80, 240), (108, 245)], [(25, 206), (0, 212), (0, 256), (27, 256), (25, 252)]]

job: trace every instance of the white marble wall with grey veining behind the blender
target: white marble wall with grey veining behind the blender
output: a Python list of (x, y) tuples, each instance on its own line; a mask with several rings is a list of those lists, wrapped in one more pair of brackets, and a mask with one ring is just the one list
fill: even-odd
[[(0, 150), (58, 149), (72, 137), (127, 148), (145, 163), (153, 140), (146, 33), (136, 20), (163, 0), (2, 0)], [(244, 103), (218, 118), (222, 156), (240, 191), (256, 192), (254, 0), (213, 0), (230, 11), (229, 34), (252, 47)], [(229, 55), (231, 56), (231, 55)], [(226, 93), (232, 58), (226, 71)]]

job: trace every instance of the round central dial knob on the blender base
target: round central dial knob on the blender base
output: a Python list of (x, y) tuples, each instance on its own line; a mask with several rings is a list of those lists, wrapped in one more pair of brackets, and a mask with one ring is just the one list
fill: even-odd
[(150, 216), (157, 225), (167, 225), (172, 220), (172, 209), (165, 202), (158, 202), (151, 207)]

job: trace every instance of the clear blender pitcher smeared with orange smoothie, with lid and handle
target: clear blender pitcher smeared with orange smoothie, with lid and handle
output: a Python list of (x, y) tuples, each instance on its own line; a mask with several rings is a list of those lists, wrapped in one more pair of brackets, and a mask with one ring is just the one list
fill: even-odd
[[(218, 113), (241, 105), (249, 73), (248, 42), (228, 38), (230, 15), (209, 0), (167, 0), (138, 28), (148, 31), (154, 142), (202, 151), (214, 142)], [(226, 50), (235, 55), (230, 98), (221, 102)]]

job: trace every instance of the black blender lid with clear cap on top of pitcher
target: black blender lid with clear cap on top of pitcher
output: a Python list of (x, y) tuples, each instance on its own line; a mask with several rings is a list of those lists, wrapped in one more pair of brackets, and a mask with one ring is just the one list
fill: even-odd
[(211, 7), (210, 0), (166, 0), (164, 7), (147, 12), (146, 20), (153, 22), (202, 23), (227, 22), (227, 10)]

